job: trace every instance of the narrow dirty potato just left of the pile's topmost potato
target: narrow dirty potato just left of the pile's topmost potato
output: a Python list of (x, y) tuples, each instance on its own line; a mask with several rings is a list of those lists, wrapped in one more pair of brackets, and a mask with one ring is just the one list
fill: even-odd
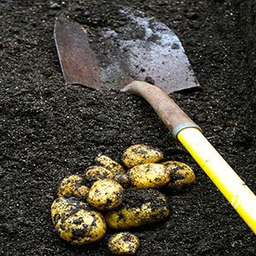
[(117, 161), (112, 160), (107, 155), (99, 154), (96, 157), (96, 163), (97, 165), (103, 166), (106, 169), (108, 169), (110, 172), (113, 173), (114, 176), (121, 173), (125, 173), (124, 167), (121, 166)]

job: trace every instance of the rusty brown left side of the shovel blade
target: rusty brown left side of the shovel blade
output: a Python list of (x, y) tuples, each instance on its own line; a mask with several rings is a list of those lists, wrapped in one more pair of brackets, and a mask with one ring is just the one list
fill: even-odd
[(96, 55), (84, 28), (61, 16), (55, 22), (55, 44), (67, 84), (84, 84), (100, 90), (102, 83)]

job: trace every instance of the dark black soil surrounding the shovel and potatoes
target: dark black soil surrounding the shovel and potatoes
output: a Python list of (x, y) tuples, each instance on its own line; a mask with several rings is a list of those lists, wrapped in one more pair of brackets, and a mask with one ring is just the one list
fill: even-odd
[(172, 97), (255, 193), (255, 88), (244, 33), (249, 30), (239, 1), (230, 2), (0, 1), (1, 255), (110, 255), (111, 231), (89, 246), (62, 241), (50, 205), (63, 177), (83, 173), (98, 153), (120, 160), (134, 143), (160, 148), (166, 160), (181, 160), (196, 175), (192, 189), (166, 194), (166, 221), (132, 230), (141, 240), (137, 255), (256, 254), (253, 232), (148, 103), (116, 90), (67, 86), (53, 38), (61, 14), (96, 31), (106, 23), (120, 26), (119, 8), (141, 10), (170, 26), (201, 84)]

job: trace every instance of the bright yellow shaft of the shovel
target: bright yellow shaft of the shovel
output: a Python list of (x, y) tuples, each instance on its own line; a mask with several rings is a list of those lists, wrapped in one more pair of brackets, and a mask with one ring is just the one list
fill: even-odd
[(195, 128), (179, 131), (177, 139), (256, 234), (256, 196), (212, 144)]

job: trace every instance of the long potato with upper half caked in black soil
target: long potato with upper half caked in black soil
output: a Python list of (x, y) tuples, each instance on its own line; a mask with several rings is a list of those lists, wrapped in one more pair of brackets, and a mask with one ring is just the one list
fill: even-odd
[(166, 195), (156, 189), (125, 189), (120, 207), (105, 215), (107, 225), (124, 230), (145, 224), (153, 224), (169, 215)]

